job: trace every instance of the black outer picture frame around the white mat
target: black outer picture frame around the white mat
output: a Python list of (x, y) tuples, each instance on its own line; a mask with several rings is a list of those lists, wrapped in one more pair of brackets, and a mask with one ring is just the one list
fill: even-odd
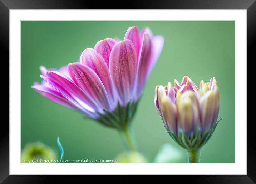
[[(113, 4), (116, 2), (112, 2)], [(2, 64), (9, 61), (9, 10), (10, 9), (114, 9), (110, 1), (87, 0), (0, 0), (0, 45)], [(256, 2), (255, 0), (137, 0), (122, 6), (121, 9), (246, 9), (247, 10), (247, 63), (256, 61)], [(120, 9), (120, 8), (118, 8)], [(4, 57), (3, 57), (4, 56)], [(8, 66), (9, 67), (9, 66)], [(248, 72), (248, 71), (247, 71)], [(5, 80), (6, 81), (6, 80)], [(8, 83), (9, 85), (9, 83)], [(245, 88), (245, 85), (243, 85)], [(6, 87), (5, 87), (6, 89)], [(8, 88), (9, 89), (9, 88)], [(246, 88), (247, 90), (247, 84)], [(3, 91), (4, 93), (7, 90)], [(9, 95), (9, 90), (8, 90)], [(248, 92), (247, 92), (248, 95)], [(9, 96), (10, 98), (10, 96)], [(4, 116), (2, 116), (4, 117)], [(240, 122), (243, 123), (243, 122)], [(244, 122), (246, 123), (246, 122)], [(247, 124), (247, 175), (210, 175), (210, 176), (173, 176), (182, 177), (190, 183), (255, 183), (256, 182), (256, 147), (254, 143), (255, 122)], [(0, 182), (3, 183), (47, 183), (53, 176), (9, 175), (9, 124), (1, 122), (0, 133)], [(88, 176), (85, 176), (88, 177)], [(172, 177), (172, 179), (174, 179)], [(73, 178), (73, 177), (72, 177)], [(66, 176), (58, 176), (59, 180)], [(72, 181), (71, 179), (70, 181)]]

